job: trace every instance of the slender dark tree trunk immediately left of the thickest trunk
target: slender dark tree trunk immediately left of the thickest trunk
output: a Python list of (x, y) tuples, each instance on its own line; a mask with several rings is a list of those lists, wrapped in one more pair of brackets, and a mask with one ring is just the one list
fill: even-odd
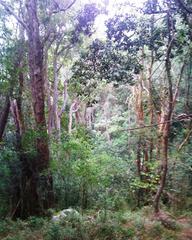
[(16, 126), (16, 150), (18, 153), (18, 157), (20, 159), (21, 164), (21, 175), (17, 175), (13, 169), (13, 191), (11, 198), (11, 217), (22, 217), (23, 216), (23, 188), (22, 188), (22, 176), (24, 174), (23, 169), (25, 169), (26, 164), (26, 156), (24, 154), (23, 146), (22, 146), (22, 137), (25, 133), (25, 123), (24, 123), (24, 115), (23, 115), (23, 88), (24, 88), (24, 51), (23, 46), (25, 45), (24, 41), (24, 29), (20, 26), (20, 45), (17, 51), (17, 62), (15, 65), (16, 70), (19, 72), (18, 74), (18, 83), (19, 83), (19, 91), (17, 98), (11, 101), (11, 111), (14, 118), (15, 126)]

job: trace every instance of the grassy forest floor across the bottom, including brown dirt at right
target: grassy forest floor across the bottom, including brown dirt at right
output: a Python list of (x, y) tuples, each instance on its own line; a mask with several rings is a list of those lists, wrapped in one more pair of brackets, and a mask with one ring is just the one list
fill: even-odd
[(140, 211), (87, 211), (54, 222), (30, 217), (0, 221), (2, 240), (192, 240), (192, 217)]

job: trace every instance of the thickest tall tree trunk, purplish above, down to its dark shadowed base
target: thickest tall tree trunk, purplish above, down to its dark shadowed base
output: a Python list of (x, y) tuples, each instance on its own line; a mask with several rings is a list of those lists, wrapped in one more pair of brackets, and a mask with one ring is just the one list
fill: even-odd
[(51, 175), (44, 174), (49, 167), (49, 148), (44, 111), (43, 49), (40, 41), (37, 1), (27, 0), (26, 8), (29, 71), (35, 131), (38, 136), (35, 139), (36, 157), (26, 158), (23, 161), (20, 193), (23, 211), (18, 213), (20, 217), (43, 214), (44, 209), (51, 207), (53, 200)]

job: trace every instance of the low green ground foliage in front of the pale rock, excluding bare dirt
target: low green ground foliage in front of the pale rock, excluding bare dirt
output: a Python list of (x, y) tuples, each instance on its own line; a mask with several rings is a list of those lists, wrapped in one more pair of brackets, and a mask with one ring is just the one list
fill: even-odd
[[(96, 217), (94, 217), (96, 215)], [(144, 219), (143, 219), (144, 217)], [(39, 223), (34, 225), (31, 223)], [(41, 223), (41, 224), (40, 224)], [(7, 239), (177, 239), (182, 229), (168, 230), (158, 221), (152, 221), (149, 216), (141, 212), (107, 212), (103, 222), (100, 213), (86, 212), (79, 218), (65, 219), (54, 223), (48, 219), (33, 217), (26, 221), (11, 221), (6, 219), (0, 222), (0, 237)], [(179, 239), (179, 238), (178, 238)]]

